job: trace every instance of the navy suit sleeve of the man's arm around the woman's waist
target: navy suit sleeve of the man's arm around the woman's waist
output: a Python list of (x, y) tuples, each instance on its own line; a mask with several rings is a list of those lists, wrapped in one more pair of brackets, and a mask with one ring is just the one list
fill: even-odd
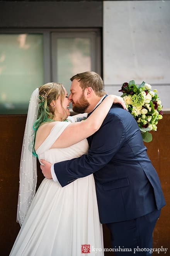
[(54, 164), (62, 187), (77, 178), (88, 176), (104, 167), (120, 149), (126, 137), (122, 120), (108, 114), (100, 129), (93, 135), (87, 155)]

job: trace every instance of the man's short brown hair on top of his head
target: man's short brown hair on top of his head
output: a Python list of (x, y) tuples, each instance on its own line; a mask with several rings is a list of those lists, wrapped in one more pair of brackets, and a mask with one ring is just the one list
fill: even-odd
[(102, 78), (99, 76), (99, 74), (93, 71), (79, 73), (70, 78), (71, 81), (74, 79), (80, 81), (80, 87), (83, 91), (87, 87), (92, 87), (97, 96), (102, 97), (106, 94)]

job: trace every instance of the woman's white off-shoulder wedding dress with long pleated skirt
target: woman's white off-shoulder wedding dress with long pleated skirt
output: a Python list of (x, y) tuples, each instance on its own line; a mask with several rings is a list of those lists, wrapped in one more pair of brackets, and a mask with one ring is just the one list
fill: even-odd
[[(50, 149), (69, 123), (56, 122), (46, 140), (37, 149), (39, 159), (51, 163), (87, 154), (87, 140), (65, 149)], [(62, 170), (61, 170), (62, 171)], [(10, 256), (82, 256), (81, 245), (101, 248), (102, 225), (99, 221), (93, 175), (61, 187), (44, 178), (27, 212)]]

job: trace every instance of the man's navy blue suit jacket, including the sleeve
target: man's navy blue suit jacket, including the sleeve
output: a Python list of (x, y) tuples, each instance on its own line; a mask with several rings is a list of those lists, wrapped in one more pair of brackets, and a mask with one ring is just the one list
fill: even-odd
[(93, 173), (101, 223), (130, 220), (165, 205), (138, 124), (128, 111), (112, 105), (87, 140), (87, 155), (56, 163), (54, 171), (62, 187)]

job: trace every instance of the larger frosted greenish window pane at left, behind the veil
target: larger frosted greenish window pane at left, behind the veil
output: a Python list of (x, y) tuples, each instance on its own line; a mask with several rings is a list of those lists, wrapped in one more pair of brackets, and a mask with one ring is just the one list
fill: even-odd
[(26, 114), (43, 84), (42, 34), (0, 35), (0, 114)]

